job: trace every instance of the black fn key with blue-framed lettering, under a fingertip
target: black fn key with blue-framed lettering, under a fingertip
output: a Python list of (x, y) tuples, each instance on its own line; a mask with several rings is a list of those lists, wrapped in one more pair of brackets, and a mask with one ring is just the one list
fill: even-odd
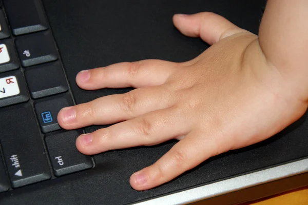
[(57, 123), (57, 114), (64, 107), (73, 106), (73, 101), (69, 95), (54, 96), (36, 101), (34, 106), (42, 132), (47, 133), (61, 129)]

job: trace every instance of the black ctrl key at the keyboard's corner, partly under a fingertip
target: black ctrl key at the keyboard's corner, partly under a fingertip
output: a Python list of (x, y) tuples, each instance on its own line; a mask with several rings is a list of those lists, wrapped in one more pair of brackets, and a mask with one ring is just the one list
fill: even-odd
[(81, 131), (73, 130), (45, 137), (54, 175), (62, 176), (92, 168), (91, 157), (81, 154), (75, 146), (76, 138), (81, 134)]

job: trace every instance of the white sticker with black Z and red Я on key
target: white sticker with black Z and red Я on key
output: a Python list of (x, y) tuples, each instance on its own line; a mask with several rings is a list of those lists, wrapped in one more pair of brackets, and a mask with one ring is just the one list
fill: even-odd
[(20, 94), (15, 76), (0, 78), (0, 99)]

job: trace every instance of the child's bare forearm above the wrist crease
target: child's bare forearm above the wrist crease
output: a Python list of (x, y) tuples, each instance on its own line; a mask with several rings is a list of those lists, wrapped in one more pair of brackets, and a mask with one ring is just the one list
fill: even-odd
[(308, 1), (268, 0), (259, 30), (260, 46), (286, 80), (308, 99)]

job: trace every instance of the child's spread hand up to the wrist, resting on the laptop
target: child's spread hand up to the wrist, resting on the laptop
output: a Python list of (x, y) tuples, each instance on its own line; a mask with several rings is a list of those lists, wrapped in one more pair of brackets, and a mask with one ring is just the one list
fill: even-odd
[(86, 90), (137, 89), (64, 108), (58, 115), (64, 129), (120, 122), (76, 140), (78, 150), (89, 155), (179, 139), (154, 165), (131, 176), (136, 190), (264, 140), (307, 108), (295, 83), (263, 54), (257, 35), (213, 13), (175, 15), (174, 24), (213, 46), (185, 63), (143, 60), (82, 71), (76, 82)]

